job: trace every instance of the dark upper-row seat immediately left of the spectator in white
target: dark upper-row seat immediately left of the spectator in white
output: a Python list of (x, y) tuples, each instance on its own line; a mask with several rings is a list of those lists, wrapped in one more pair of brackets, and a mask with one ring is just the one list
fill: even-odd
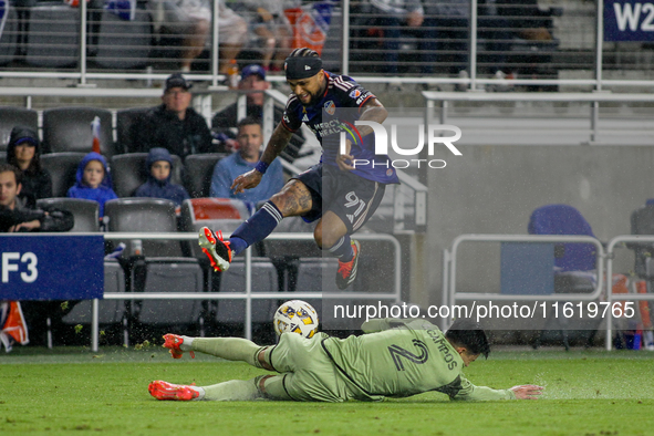
[(100, 12), (100, 30), (95, 62), (113, 70), (135, 69), (148, 62), (152, 51), (152, 20), (149, 13), (137, 8), (133, 20)]

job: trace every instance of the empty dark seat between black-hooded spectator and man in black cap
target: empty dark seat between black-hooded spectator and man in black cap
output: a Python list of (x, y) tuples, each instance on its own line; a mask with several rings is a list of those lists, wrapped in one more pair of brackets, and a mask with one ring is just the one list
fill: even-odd
[(44, 153), (90, 153), (93, 146), (91, 123), (100, 117), (100, 149), (106, 157), (118, 154), (113, 138), (112, 113), (95, 107), (56, 107), (43, 111)]

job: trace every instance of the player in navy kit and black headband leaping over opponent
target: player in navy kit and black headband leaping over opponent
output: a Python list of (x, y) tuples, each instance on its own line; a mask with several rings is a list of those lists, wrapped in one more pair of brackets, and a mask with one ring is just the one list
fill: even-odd
[(284, 70), (292, 94), (282, 121), (256, 168), (237, 177), (231, 189), (238, 194), (259, 185), (268, 166), (302, 123), (322, 145), (321, 162), (291, 178), (229, 240), (205, 227), (199, 233), (199, 245), (211, 266), (225, 271), (233, 256), (268, 237), (282, 218), (301, 216), (309, 222), (318, 220), (313, 231), (315, 242), (339, 259), (336, 284), (345, 289), (356, 278), (361, 256), (361, 245), (350, 239), (350, 235), (374, 214), (385, 186), (399, 181), (388, 165), (388, 157), (374, 154), (372, 127), (357, 126), (355, 134), (345, 141), (345, 153), (341, 153), (340, 135), (353, 132), (354, 121), (382, 124), (388, 113), (370, 91), (351, 77), (324, 71), (322, 60), (313, 50), (294, 50), (287, 58)]

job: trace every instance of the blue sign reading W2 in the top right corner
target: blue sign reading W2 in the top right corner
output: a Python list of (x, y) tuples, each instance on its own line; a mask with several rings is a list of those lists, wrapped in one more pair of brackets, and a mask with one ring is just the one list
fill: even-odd
[(604, 0), (604, 41), (654, 41), (654, 0)]

